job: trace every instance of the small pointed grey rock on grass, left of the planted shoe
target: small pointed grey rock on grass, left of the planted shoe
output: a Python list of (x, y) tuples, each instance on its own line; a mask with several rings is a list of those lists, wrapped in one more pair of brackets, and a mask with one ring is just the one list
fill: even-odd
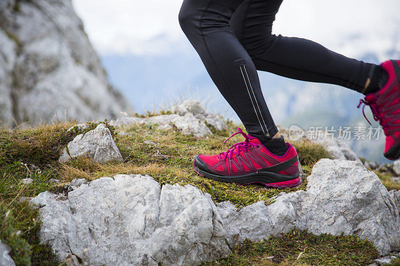
[(112, 139), (111, 132), (104, 124), (99, 124), (84, 135), (77, 135), (68, 143), (67, 148), (62, 150), (58, 161), (67, 162), (71, 158), (79, 156), (90, 157), (95, 162), (120, 162), (123, 160)]

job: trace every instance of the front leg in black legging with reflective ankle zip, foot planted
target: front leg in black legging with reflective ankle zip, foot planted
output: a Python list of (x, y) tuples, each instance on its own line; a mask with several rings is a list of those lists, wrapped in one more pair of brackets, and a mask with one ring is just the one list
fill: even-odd
[(230, 17), (242, 1), (184, 0), (179, 23), (247, 132), (266, 141), (277, 128), (262, 96), (255, 66), (229, 29)]

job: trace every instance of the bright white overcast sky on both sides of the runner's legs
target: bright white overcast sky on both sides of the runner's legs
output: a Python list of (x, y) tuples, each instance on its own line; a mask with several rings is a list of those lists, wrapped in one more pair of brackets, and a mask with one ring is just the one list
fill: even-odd
[[(188, 48), (177, 14), (182, 0), (72, 0), (100, 54), (154, 54)], [(384, 49), (400, 30), (399, 0), (283, 0), (275, 33), (309, 38), (354, 53)], [(398, 18), (397, 18), (398, 17)], [(400, 41), (398, 41), (400, 43)], [(399, 44), (400, 45), (400, 44)]]

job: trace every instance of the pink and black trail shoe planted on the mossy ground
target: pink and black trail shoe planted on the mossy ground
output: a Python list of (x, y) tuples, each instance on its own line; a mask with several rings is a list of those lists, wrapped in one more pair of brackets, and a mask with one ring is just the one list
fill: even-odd
[(194, 171), (216, 181), (242, 185), (260, 183), (271, 188), (292, 188), (301, 184), (297, 152), (289, 143), (286, 153), (276, 156), (240, 128), (228, 139), (236, 134), (243, 135), (245, 140), (218, 155), (196, 155)]

